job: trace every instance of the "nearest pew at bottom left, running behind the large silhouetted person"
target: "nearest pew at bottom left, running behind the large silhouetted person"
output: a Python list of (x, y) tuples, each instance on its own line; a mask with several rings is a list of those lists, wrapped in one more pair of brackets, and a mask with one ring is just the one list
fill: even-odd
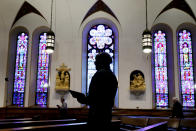
[[(120, 120), (112, 120), (112, 130), (119, 131), (120, 130)], [(17, 131), (17, 130), (49, 130), (49, 129), (57, 129), (57, 130), (86, 130), (87, 122), (74, 122), (68, 124), (54, 124), (54, 125), (42, 125), (42, 126), (27, 126), (27, 127), (17, 127), (17, 128), (6, 128), (0, 129), (0, 131)]]

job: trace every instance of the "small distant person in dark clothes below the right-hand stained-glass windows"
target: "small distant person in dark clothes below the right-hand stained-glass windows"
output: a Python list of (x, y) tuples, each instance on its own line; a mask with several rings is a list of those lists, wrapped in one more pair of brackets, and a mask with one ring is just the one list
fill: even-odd
[(183, 106), (182, 104), (178, 101), (177, 98), (173, 98), (173, 107), (172, 107), (172, 117), (176, 118), (184, 118), (183, 115)]

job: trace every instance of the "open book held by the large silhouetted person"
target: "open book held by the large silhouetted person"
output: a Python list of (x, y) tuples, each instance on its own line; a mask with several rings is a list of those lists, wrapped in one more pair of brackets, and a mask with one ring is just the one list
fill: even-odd
[(71, 95), (77, 99), (77, 101), (81, 104), (87, 104), (87, 98), (83, 93), (77, 92), (77, 91), (73, 91), (73, 90), (69, 90), (69, 92), (71, 93)]

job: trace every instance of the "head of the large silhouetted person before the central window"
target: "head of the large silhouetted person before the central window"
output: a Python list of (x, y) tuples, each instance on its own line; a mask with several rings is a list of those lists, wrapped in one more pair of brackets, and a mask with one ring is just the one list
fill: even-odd
[(110, 69), (110, 64), (112, 63), (112, 58), (108, 53), (102, 52), (96, 55), (95, 65), (96, 69)]

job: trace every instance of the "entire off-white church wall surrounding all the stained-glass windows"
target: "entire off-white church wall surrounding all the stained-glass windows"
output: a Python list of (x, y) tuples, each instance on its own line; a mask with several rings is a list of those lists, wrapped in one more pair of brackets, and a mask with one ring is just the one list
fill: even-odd
[[(44, 20), (42, 17), (35, 14), (28, 14), (19, 19), (14, 27), (25, 26), (30, 35), (29, 41), (32, 42), (32, 34), (35, 29), (41, 26), (49, 26), (50, 23), (50, 3), (48, 0), (34, 1), (28, 0), (37, 10), (39, 10), (43, 16), (47, 19)], [(184, 22), (194, 23), (193, 19), (182, 11), (172, 9), (158, 17), (154, 22), (156, 16), (160, 11), (172, 0), (151, 0), (148, 5), (148, 22), (149, 29), (157, 23), (168, 24), (173, 30), (173, 43), (176, 43), (176, 29)], [(81, 91), (82, 89), (82, 30), (85, 24), (90, 20), (96, 18), (106, 18), (113, 20), (113, 17), (106, 13), (95, 13), (94, 15), (87, 18), (81, 25), (82, 19), (84, 18), (87, 11), (96, 2), (96, 0), (58, 0), (54, 2), (53, 12), (53, 31), (56, 34), (56, 45), (55, 52), (51, 55), (51, 68), (50, 68), (50, 87), (49, 87), (49, 107), (56, 107), (60, 104), (60, 96), (55, 91), (55, 77), (56, 68), (62, 63), (71, 68), (70, 71), (70, 88), (72, 90)], [(142, 33), (145, 30), (145, 2), (143, 0), (105, 0), (104, 1), (116, 17), (120, 24), (119, 29), (119, 70), (118, 70), (118, 82), (119, 82), (119, 108), (130, 108), (130, 109), (152, 109), (152, 77), (151, 77), (151, 56), (143, 54), (142, 52)], [(193, 0), (189, 0), (192, 9), (195, 4)], [(20, 9), (22, 2), (3, 0), (0, 7), (0, 96), (4, 97), (5, 89), (5, 76), (7, 70), (7, 50), (9, 41), (9, 31), (17, 14)], [(6, 6), (13, 7), (12, 10), (5, 8)], [(195, 12), (195, 9), (193, 9)], [(6, 15), (2, 12), (7, 12)], [(13, 27), (13, 28), (14, 28)], [(30, 43), (31, 44), (31, 43)], [(29, 48), (30, 49), (30, 48)], [(176, 48), (174, 48), (176, 52)], [(30, 53), (30, 52), (29, 52)], [(30, 55), (30, 54), (29, 54)], [(177, 53), (174, 56), (175, 62), (177, 63)], [(31, 64), (28, 59), (28, 66)], [(146, 92), (140, 97), (136, 98), (130, 94), (130, 74), (134, 70), (140, 70), (144, 73), (146, 82)], [(175, 76), (178, 76), (177, 64), (174, 65)], [(31, 70), (28, 69), (27, 73), (27, 85), (25, 92), (25, 107), (29, 106), (29, 83), (31, 77)], [(175, 88), (176, 96), (179, 96), (178, 91), (178, 77), (175, 77)], [(3, 99), (0, 100), (0, 107), (4, 106)], [(68, 107), (81, 107), (81, 105), (72, 98), (72, 96), (66, 96), (66, 102)]]

